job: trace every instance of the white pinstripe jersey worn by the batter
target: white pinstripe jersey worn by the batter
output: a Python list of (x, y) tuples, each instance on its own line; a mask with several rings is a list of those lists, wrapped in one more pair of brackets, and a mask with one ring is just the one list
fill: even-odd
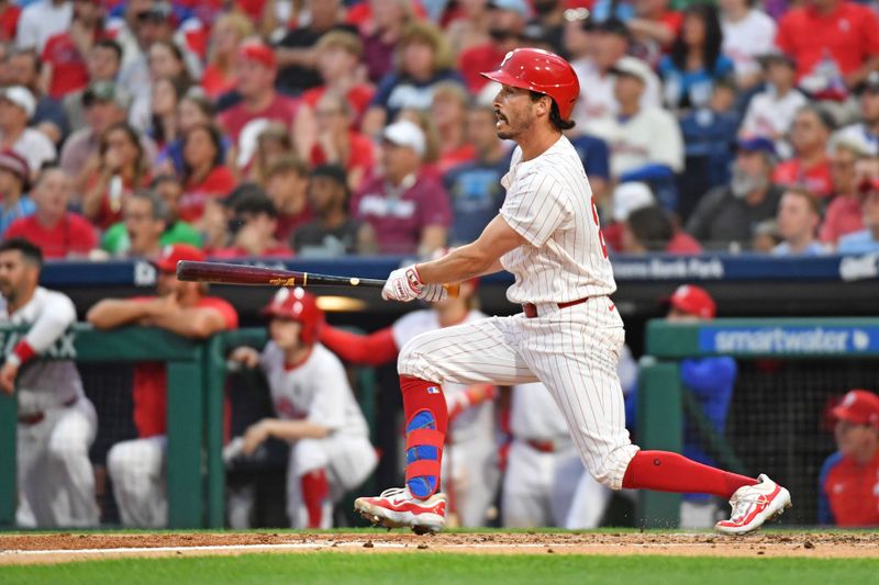
[(592, 189), (565, 136), (526, 161), (516, 147), (501, 184), (500, 214), (528, 241), (501, 258), (515, 275), (510, 302), (566, 303), (616, 290)]

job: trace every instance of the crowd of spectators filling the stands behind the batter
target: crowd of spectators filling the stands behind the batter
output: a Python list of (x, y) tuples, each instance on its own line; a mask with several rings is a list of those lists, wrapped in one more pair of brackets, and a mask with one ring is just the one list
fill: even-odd
[(511, 144), (479, 74), (570, 59), (615, 252), (879, 250), (879, 8), (848, 0), (0, 1), (0, 230), (48, 258), (430, 255)]

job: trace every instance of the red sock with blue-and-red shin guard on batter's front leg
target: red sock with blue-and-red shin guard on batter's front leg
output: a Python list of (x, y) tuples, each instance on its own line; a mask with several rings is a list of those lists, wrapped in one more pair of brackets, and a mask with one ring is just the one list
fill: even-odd
[(405, 414), (405, 484), (415, 497), (439, 488), (448, 408), (443, 389), (409, 375), (400, 376)]

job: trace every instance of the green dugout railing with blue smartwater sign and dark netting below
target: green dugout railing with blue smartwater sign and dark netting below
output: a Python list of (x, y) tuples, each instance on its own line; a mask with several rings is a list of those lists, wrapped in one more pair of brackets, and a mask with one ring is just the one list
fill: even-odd
[[(798, 503), (814, 507), (816, 470), (833, 449), (826, 413), (834, 396), (848, 386), (876, 390), (879, 384), (879, 318), (657, 319), (647, 324), (645, 349), (637, 394), (641, 447), (680, 452), (686, 421), (721, 466), (750, 475), (768, 472), (757, 465), (774, 466), (788, 475), (774, 479), (790, 482), (795, 509)], [(735, 393), (743, 400), (732, 414), (735, 438), (728, 423), (719, 432), (681, 382), (681, 360), (710, 356), (731, 356), (739, 364), (734, 402)], [(752, 372), (755, 363), (758, 375)], [(748, 409), (756, 416), (745, 416)], [(802, 477), (793, 477), (800, 472)], [(680, 494), (641, 492), (636, 521), (677, 527), (680, 503)], [(801, 506), (797, 511), (798, 524), (810, 524), (811, 510)]]

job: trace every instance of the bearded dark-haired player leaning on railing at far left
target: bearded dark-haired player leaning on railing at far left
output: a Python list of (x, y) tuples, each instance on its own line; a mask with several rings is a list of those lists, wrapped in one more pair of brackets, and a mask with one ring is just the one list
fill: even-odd
[(42, 266), (43, 254), (33, 244), (23, 239), (0, 244), (0, 293), (5, 305), (0, 320), (30, 326), (0, 370), (2, 391), (12, 394), (19, 389), (15, 519), (24, 527), (93, 527), (100, 513), (89, 447), (98, 431), (98, 415), (73, 361), (32, 361), (52, 351), (76, 322), (67, 295), (38, 285)]

